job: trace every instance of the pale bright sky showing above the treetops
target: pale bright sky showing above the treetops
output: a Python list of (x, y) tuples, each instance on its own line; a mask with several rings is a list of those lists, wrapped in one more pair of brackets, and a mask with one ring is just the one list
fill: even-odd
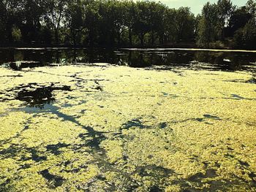
[[(206, 4), (207, 1), (211, 3), (217, 2), (217, 0), (156, 0), (161, 1), (163, 4), (166, 4), (170, 8), (178, 8), (178, 7), (190, 7), (191, 11), (197, 15), (201, 12), (203, 5)], [(238, 7), (244, 6), (247, 0), (233, 0), (233, 4)]]

